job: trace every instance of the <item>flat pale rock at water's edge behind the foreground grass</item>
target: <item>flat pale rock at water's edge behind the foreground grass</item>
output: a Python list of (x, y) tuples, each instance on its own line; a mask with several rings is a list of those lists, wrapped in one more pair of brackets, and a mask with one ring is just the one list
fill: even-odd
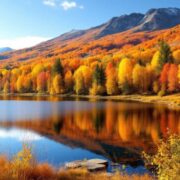
[(104, 159), (73, 161), (65, 164), (65, 168), (67, 169), (86, 168), (88, 171), (91, 172), (106, 170), (107, 166), (108, 166), (108, 161)]

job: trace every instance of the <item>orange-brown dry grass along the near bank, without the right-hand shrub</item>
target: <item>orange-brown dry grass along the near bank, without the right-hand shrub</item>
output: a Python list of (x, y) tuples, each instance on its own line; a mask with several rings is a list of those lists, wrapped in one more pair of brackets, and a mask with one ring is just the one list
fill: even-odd
[[(38, 164), (32, 160), (25, 147), (15, 158), (8, 160), (0, 156), (0, 180), (150, 180), (149, 175), (128, 176), (120, 173), (90, 173), (86, 169), (56, 170), (47, 163)], [(21, 156), (20, 156), (21, 155)], [(20, 158), (19, 158), (20, 157)], [(30, 158), (29, 158), (30, 157)]]

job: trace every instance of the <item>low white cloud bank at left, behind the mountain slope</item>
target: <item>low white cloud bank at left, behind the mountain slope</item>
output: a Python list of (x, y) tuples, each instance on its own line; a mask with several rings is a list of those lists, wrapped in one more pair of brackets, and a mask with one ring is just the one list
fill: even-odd
[(11, 47), (13, 49), (23, 49), (37, 45), (43, 41), (47, 41), (50, 38), (27, 36), (14, 39), (0, 39), (0, 47)]

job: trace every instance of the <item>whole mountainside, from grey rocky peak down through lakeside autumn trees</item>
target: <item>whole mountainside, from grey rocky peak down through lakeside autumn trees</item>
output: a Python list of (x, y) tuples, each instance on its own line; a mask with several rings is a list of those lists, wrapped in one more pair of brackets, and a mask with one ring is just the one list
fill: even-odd
[[(177, 93), (180, 18), (165, 25), (164, 17), (179, 17), (179, 9), (150, 10), (146, 15), (133, 13), (89, 30), (73, 30), (32, 48), (2, 53), (0, 92), (159, 96)], [(173, 22), (177, 25), (173, 26)], [(167, 29), (169, 26), (173, 27)]]

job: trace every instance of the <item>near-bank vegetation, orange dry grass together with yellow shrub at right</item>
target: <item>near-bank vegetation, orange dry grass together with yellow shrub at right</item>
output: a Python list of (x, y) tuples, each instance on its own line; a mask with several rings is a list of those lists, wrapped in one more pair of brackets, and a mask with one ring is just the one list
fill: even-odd
[(179, 179), (180, 176), (180, 136), (170, 135), (161, 140), (155, 155), (143, 153), (146, 165), (153, 165), (155, 175), (127, 175), (123, 172), (89, 172), (84, 168), (54, 168), (48, 163), (37, 163), (31, 148), (24, 145), (22, 151), (12, 160), (0, 156), (0, 180), (151, 180)]

